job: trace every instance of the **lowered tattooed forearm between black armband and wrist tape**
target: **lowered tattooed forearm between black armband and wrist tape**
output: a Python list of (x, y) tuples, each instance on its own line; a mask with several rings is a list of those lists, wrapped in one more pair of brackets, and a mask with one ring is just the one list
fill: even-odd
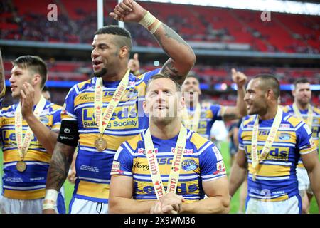
[(48, 170), (46, 188), (60, 190), (68, 176), (69, 167), (73, 160), (71, 147), (57, 142)]

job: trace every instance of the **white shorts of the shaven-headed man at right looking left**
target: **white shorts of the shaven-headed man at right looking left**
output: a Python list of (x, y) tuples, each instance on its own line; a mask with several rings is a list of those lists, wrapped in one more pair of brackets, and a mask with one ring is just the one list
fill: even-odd
[(301, 199), (297, 196), (279, 202), (265, 202), (249, 198), (246, 204), (246, 214), (300, 214), (302, 209)]

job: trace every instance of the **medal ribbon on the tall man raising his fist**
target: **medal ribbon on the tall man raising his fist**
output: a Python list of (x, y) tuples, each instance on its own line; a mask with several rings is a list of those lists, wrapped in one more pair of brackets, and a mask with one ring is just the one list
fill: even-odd
[(103, 117), (103, 83), (102, 78), (97, 78), (97, 81), (95, 83), (95, 123), (99, 128), (100, 135), (103, 135), (103, 133), (105, 132), (105, 128), (107, 128), (107, 125), (112, 118), (112, 114), (114, 113), (115, 108), (117, 108), (122, 95), (124, 95), (126, 91), (129, 83), (129, 73), (130, 70), (127, 69), (127, 72), (124, 74), (124, 77), (120, 81), (117, 90), (114, 92), (112, 99), (110, 100), (110, 103), (107, 105), (105, 113), (103, 113)]

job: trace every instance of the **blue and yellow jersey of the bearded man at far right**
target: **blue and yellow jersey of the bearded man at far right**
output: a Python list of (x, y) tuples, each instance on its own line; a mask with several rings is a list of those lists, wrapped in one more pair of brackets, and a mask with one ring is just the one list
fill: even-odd
[[(295, 115), (294, 110), (292, 108), (292, 105), (287, 105), (284, 108), (282, 108), (285, 113), (288, 113), (289, 115)], [(319, 147), (319, 134), (320, 134), (320, 109), (316, 107), (312, 107), (313, 110), (313, 118), (312, 118), (312, 140), (314, 140), (314, 143), (316, 143), (316, 146)], [(299, 110), (302, 118), (304, 121), (307, 121), (308, 118), (308, 110)], [(304, 168), (304, 165), (302, 164), (302, 159), (300, 158), (297, 167)]]

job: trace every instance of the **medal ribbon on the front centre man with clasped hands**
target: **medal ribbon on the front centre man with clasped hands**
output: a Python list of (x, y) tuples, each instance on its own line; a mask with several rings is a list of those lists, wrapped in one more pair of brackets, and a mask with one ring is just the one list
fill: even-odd
[(151, 174), (152, 183), (154, 184), (154, 190), (156, 192), (156, 198), (160, 199), (166, 192), (176, 192), (178, 186), (178, 178), (183, 161), (184, 148), (186, 147), (186, 128), (181, 125), (181, 129), (176, 142), (176, 148), (174, 150), (174, 160), (171, 165), (167, 190), (164, 190), (164, 184), (161, 180), (158, 161), (156, 160), (156, 152), (154, 150), (154, 143), (152, 142), (150, 129), (146, 130), (144, 135), (144, 147), (146, 148), (146, 159), (148, 160), (149, 170)]

